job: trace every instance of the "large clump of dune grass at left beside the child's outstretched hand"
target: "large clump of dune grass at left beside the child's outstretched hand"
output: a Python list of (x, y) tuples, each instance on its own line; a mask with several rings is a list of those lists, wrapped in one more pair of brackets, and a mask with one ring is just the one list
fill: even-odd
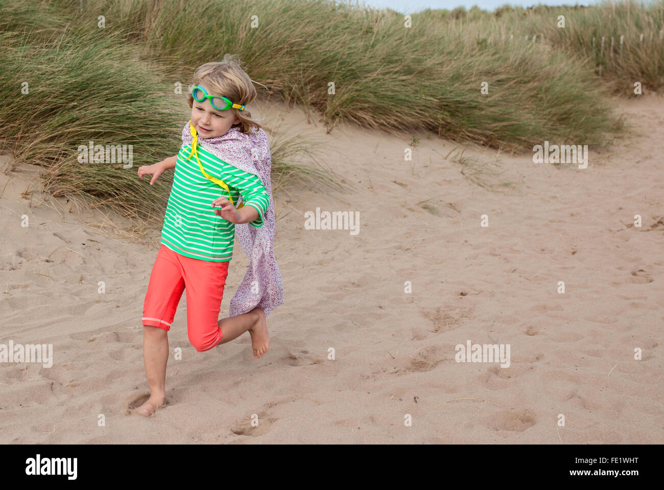
[[(150, 187), (136, 175), (181, 145), (183, 123), (165, 97), (159, 67), (137, 60), (136, 48), (112, 33), (46, 33), (50, 21), (59, 22), (47, 5), (2, 0), (0, 7), (0, 147), (13, 153), (14, 167), (46, 167), (44, 184), (56, 196), (83, 195), (127, 217), (163, 216), (159, 195), (167, 194), (169, 179)], [(133, 167), (79, 163), (78, 147), (91, 140), (132, 145)]]

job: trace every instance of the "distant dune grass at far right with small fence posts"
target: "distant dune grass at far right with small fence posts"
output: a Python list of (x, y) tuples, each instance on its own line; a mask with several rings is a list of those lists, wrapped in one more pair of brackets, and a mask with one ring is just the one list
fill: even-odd
[[(441, 28), (469, 26), (488, 38), (500, 32), (517, 41), (544, 43), (586, 62), (614, 94), (634, 96), (634, 82), (644, 90), (664, 88), (664, 1), (602, 1), (582, 7), (537, 5), (524, 9), (504, 5), (494, 12), (463, 7), (424, 13)], [(564, 27), (558, 27), (558, 16)], [(622, 43), (621, 43), (622, 37)], [(602, 42), (604, 38), (604, 43)]]

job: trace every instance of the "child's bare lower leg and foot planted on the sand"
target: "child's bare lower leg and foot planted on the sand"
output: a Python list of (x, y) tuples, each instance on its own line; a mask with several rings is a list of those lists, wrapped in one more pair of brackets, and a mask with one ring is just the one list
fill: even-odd
[(168, 332), (159, 327), (143, 326), (143, 363), (150, 387), (150, 398), (136, 409), (141, 415), (151, 416), (157, 407), (164, 406), (166, 391), (166, 363), (168, 361)]

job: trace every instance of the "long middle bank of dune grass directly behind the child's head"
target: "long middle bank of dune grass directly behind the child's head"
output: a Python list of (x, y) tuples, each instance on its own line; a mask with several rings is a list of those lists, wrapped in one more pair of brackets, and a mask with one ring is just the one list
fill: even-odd
[(199, 64), (236, 52), (268, 94), (316, 112), (329, 129), (343, 121), (530, 150), (544, 139), (602, 143), (616, 126), (582, 62), (528, 43), (481, 42), (479, 29), (426, 15), (406, 28), (400, 15), (325, 1), (100, 1), (80, 12), (76, 0), (52, 3), (78, 12), (82, 25), (103, 12), (107, 29), (183, 84)]

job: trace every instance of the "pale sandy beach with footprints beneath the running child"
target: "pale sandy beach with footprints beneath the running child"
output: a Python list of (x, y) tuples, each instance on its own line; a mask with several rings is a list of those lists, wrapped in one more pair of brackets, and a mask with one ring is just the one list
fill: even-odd
[[(151, 418), (131, 408), (149, 393), (141, 316), (161, 228), (123, 232), (122, 216), (52, 197), (41, 167), (0, 173), (0, 344), (53, 349), (51, 367), (0, 363), (0, 442), (661, 444), (664, 99), (614, 105), (631, 133), (586, 169), (469, 147), (512, 184), (491, 191), (452, 161), (456, 143), (327, 134), (258, 104), (330, 145), (352, 191), (276, 187), (270, 351), (254, 359), (246, 333), (197, 353), (183, 295), (169, 332), (182, 359)], [(359, 232), (305, 229), (316, 208), (359, 212)], [(247, 265), (236, 243), (222, 315)], [(468, 341), (509, 345), (509, 367), (457, 363)]]

